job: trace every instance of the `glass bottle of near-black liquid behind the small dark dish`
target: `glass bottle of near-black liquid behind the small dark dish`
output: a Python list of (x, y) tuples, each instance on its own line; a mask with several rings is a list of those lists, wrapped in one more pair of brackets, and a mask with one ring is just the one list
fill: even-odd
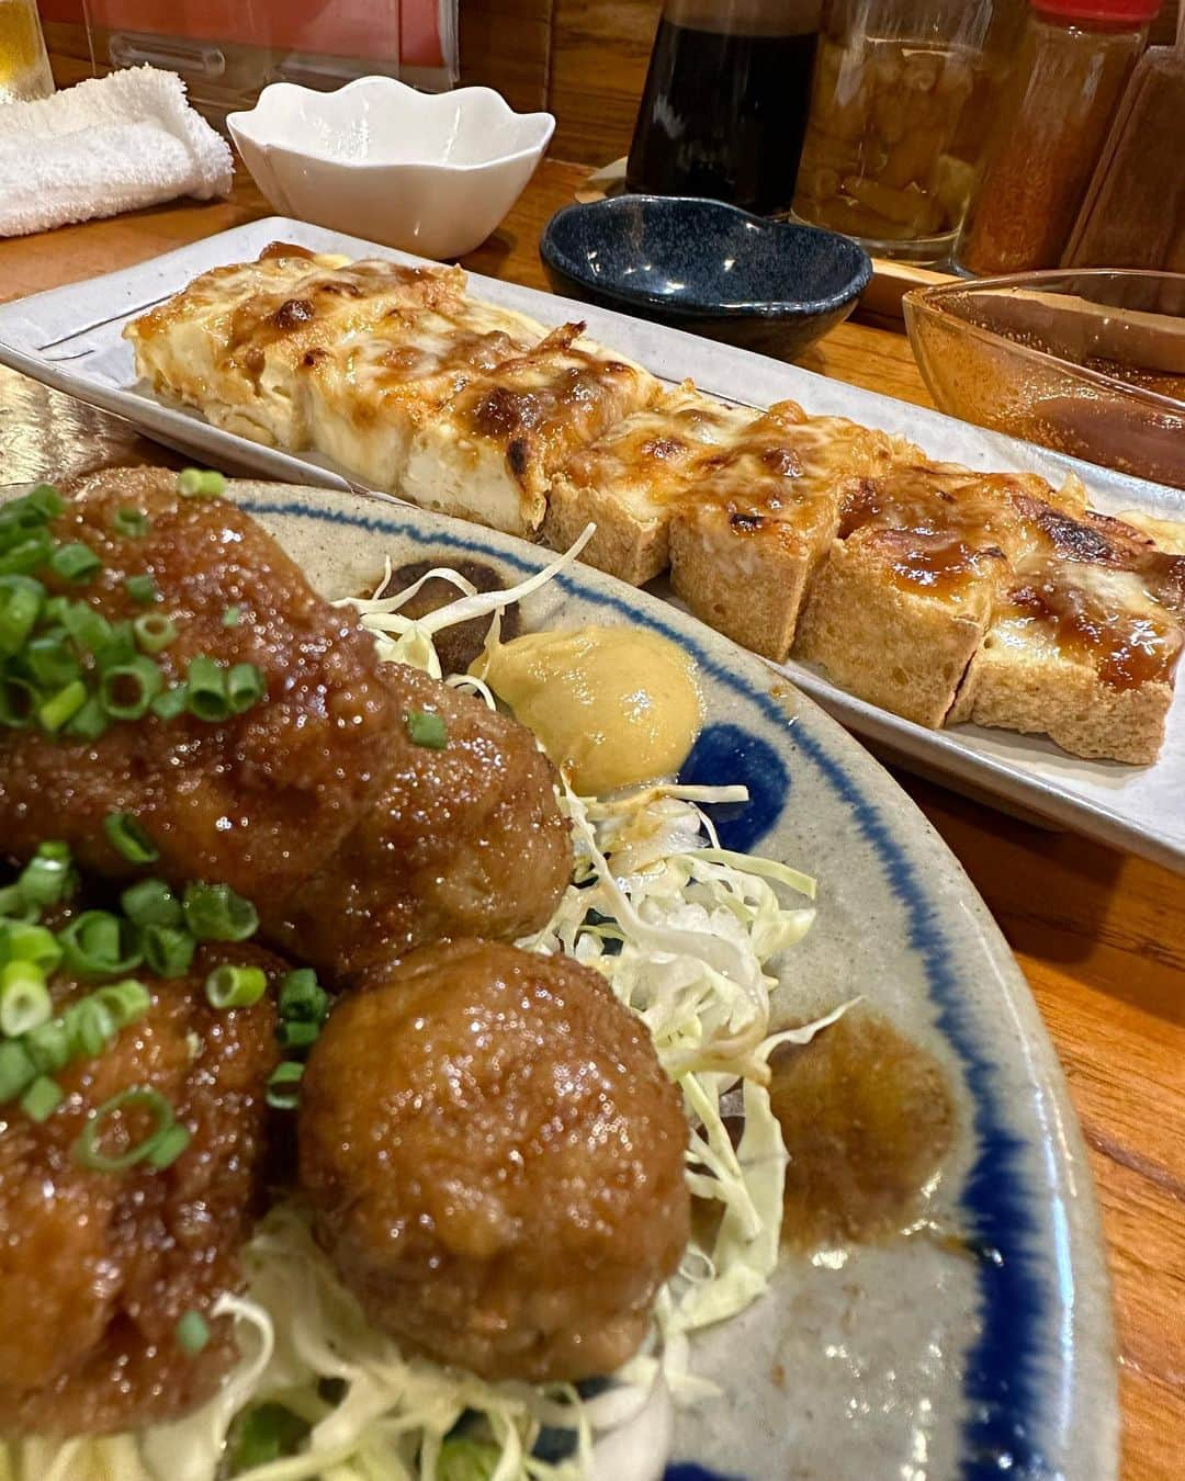
[(790, 207), (810, 102), (821, 0), (667, 0), (627, 184)]

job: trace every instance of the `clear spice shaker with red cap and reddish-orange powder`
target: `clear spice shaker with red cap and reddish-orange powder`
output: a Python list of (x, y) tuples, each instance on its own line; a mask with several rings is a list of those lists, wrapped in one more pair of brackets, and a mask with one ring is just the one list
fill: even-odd
[(1160, 0), (1029, 0), (955, 258), (975, 274), (1056, 267)]

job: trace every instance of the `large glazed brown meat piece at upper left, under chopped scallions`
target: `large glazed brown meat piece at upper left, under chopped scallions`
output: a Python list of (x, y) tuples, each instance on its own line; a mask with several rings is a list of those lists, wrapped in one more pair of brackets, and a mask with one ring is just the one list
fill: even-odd
[[(142, 538), (113, 529), (142, 511)], [(185, 499), (176, 475), (113, 469), (83, 481), (55, 521), (59, 541), (90, 546), (104, 569), (83, 597), (111, 622), (154, 610), (178, 635), (160, 655), (170, 683), (193, 658), (258, 665), (267, 702), (212, 724), (188, 714), (117, 723), (93, 742), (0, 732), (0, 837), (28, 857), (41, 838), (65, 838), (105, 875), (129, 865), (104, 838), (108, 813), (148, 829), (170, 880), (219, 880), (265, 920), (324, 862), (376, 795), (387, 738), (400, 724), (379, 677), (373, 641), (308, 585), (276, 541), (230, 501)], [(160, 603), (132, 600), (124, 578), (147, 573)], [(227, 626), (228, 607), (238, 625)]]

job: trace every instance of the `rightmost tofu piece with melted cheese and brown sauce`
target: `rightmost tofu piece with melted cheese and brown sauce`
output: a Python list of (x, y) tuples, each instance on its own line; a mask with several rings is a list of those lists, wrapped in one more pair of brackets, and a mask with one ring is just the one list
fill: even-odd
[(1185, 634), (1185, 555), (1121, 520), (1024, 504), (1025, 548), (951, 723), (1047, 735), (1064, 751), (1155, 761)]

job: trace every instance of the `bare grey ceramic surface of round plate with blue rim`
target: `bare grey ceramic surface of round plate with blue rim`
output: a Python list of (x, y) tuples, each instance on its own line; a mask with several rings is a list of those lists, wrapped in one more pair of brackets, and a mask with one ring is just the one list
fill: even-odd
[[(387, 557), (477, 560), (505, 585), (548, 560), (376, 498), (234, 492), (330, 597), (372, 586)], [(684, 778), (747, 783), (751, 801), (718, 818), (721, 843), (819, 881), (816, 923), (787, 957), (795, 1012), (861, 994), (936, 1066), (952, 1106), (924, 1217), (787, 1246), (769, 1293), (693, 1339), (693, 1367), (721, 1395), (675, 1413), (671, 1481), (1112, 1478), (1111, 1306), (1078, 1127), (1025, 980), (952, 855), (812, 701), (662, 601), (576, 566), (521, 619), (635, 624), (692, 655), (705, 727)], [(887, 1056), (853, 1090), (865, 1115), (878, 1114), (875, 1077), (893, 1072)]]

